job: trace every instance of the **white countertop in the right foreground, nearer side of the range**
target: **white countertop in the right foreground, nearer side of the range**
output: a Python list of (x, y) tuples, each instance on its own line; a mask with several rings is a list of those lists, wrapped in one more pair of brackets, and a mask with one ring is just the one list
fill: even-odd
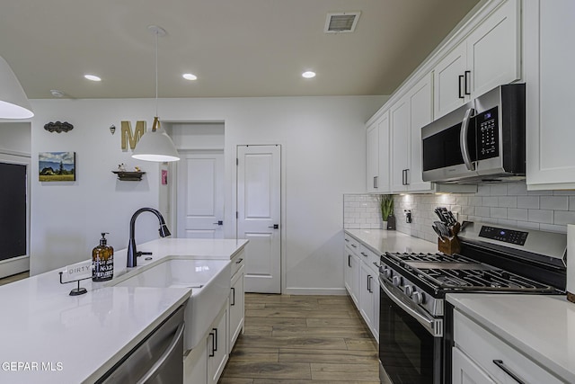
[(561, 380), (575, 382), (575, 304), (565, 296), (457, 293), (447, 301)]

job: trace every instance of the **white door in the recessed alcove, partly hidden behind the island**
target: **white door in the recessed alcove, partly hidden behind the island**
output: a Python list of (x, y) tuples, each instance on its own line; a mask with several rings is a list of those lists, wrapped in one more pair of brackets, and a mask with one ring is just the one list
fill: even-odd
[(224, 237), (224, 152), (184, 153), (178, 164), (178, 237)]

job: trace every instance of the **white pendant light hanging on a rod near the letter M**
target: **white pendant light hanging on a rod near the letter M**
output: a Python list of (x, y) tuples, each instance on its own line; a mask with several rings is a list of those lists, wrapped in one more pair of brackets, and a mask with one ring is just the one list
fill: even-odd
[(164, 28), (156, 25), (150, 25), (147, 29), (155, 34), (155, 118), (152, 130), (146, 131), (144, 136), (139, 139), (132, 157), (160, 163), (178, 161), (180, 160), (178, 150), (173, 145), (172, 138), (162, 129), (158, 118), (158, 37), (165, 36), (166, 32)]

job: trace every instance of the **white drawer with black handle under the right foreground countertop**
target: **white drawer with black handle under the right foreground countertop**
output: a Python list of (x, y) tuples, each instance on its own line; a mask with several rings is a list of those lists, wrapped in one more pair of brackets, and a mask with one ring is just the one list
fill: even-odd
[(454, 311), (454, 340), (457, 348), (498, 383), (517, 384), (517, 380), (505, 370), (525, 383), (562, 383), (535, 361), (457, 310)]

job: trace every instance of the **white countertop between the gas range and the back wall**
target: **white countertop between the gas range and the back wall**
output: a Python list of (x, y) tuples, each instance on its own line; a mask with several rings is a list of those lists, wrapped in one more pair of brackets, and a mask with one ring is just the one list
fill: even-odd
[(367, 245), (376, 254), (385, 252), (435, 253), (438, 245), (402, 232), (386, 229), (345, 229), (350, 236)]

